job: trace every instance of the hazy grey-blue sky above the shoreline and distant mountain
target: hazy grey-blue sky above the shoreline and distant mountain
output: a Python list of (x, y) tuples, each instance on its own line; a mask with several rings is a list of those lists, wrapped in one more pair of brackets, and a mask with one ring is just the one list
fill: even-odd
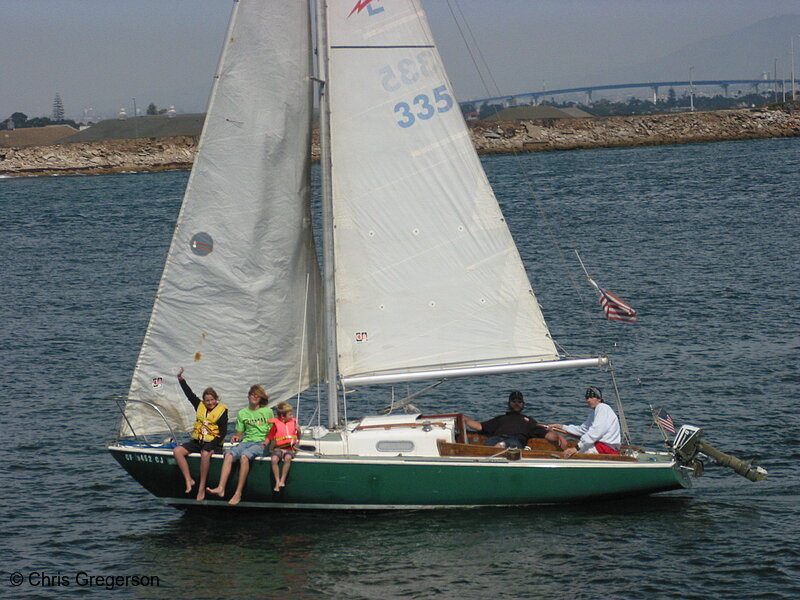
[[(800, 0), (423, 4), (462, 100), (487, 93), (454, 26), (450, 5), (465, 16), (502, 94), (587, 85), (592, 73), (657, 59), (762, 19), (800, 15)], [(140, 110), (154, 102), (175, 105), (179, 112), (202, 112), (231, 5), (230, 0), (0, 0), (0, 120), (16, 111), (50, 116), (56, 92), (67, 117), (75, 119), (88, 108), (101, 118), (114, 116), (121, 106), (130, 113), (133, 98)], [(781, 57), (765, 52), (764, 71), (772, 69), (774, 58), (788, 65), (789, 39), (784, 45)], [(795, 46), (800, 63), (800, 38)], [(489, 86), (489, 95), (494, 95), (494, 85)]]

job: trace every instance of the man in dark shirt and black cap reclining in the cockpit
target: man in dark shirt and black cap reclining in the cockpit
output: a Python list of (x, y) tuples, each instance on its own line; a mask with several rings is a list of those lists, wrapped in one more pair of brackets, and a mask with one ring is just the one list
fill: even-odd
[(464, 417), (467, 427), (480, 431), (489, 436), (487, 446), (498, 448), (524, 448), (528, 438), (544, 438), (557, 444), (564, 450), (567, 440), (555, 431), (548, 431), (544, 425), (539, 425), (536, 419), (522, 414), (525, 409), (525, 400), (522, 392), (513, 391), (508, 396), (508, 412), (504, 415), (489, 419), (483, 423)]

